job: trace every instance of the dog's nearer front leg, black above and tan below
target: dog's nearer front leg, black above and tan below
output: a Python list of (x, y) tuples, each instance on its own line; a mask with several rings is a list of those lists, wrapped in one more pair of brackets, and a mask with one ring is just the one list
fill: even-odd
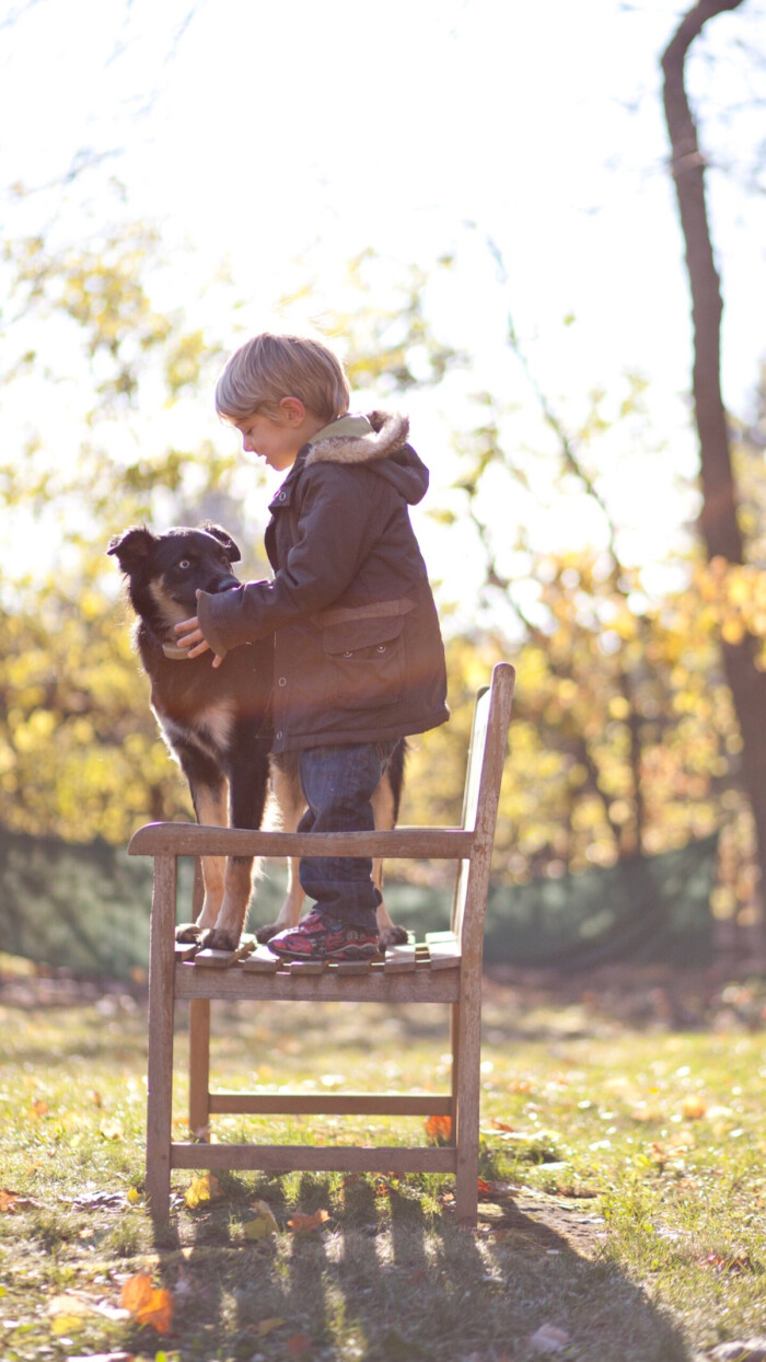
[[(248, 742), (248, 731), (233, 735), (234, 760), (229, 772), (229, 824), (233, 828), (260, 828), (268, 789), (268, 752), (263, 740)], [(201, 941), (211, 951), (235, 951), (248, 915), (253, 887), (253, 857), (226, 859), (223, 900), (215, 923)]]

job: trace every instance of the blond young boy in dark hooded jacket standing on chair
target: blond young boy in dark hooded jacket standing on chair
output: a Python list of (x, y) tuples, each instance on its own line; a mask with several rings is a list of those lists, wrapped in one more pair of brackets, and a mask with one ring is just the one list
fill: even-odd
[[(299, 753), (307, 809), (299, 831), (374, 828), (371, 795), (399, 738), (449, 718), (444, 647), (408, 507), (429, 473), (408, 421), (348, 415), (350, 390), (324, 345), (259, 335), (230, 358), (215, 392), (242, 448), (287, 473), (265, 548), (275, 576), (197, 592), (177, 625), (189, 656), (275, 635), (273, 750)], [(288, 471), (290, 470), (290, 471)], [(377, 953), (371, 859), (305, 857), (314, 908), (269, 941), (291, 959)]]

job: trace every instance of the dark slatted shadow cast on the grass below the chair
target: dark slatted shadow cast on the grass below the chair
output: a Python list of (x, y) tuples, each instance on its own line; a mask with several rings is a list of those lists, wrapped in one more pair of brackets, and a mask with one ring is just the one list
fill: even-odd
[[(293, 1174), (231, 1178), (226, 1190), (204, 1214), (181, 1212), (181, 1254), (158, 1244), (176, 1299), (166, 1347), (184, 1358), (522, 1362), (539, 1358), (529, 1339), (542, 1325), (563, 1331), (578, 1362), (691, 1357), (619, 1268), (510, 1197), (465, 1230), (434, 1178)], [(321, 1230), (253, 1244), (244, 1224), (256, 1199), (280, 1231), (295, 1207), (331, 1215)]]

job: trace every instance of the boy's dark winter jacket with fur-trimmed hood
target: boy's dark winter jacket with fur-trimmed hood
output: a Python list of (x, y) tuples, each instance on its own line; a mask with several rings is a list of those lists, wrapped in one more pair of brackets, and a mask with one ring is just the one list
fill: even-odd
[(200, 595), (215, 652), (275, 633), (275, 752), (399, 738), (449, 718), (439, 625), (408, 513), (429, 471), (407, 433), (405, 417), (378, 411), (320, 432), (269, 505), (273, 580)]

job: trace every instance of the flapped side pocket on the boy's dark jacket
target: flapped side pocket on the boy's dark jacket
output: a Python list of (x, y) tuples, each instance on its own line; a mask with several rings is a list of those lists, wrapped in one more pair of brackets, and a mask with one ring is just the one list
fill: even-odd
[(380, 710), (404, 699), (404, 616), (359, 616), (322, 628), (340, 710)]

